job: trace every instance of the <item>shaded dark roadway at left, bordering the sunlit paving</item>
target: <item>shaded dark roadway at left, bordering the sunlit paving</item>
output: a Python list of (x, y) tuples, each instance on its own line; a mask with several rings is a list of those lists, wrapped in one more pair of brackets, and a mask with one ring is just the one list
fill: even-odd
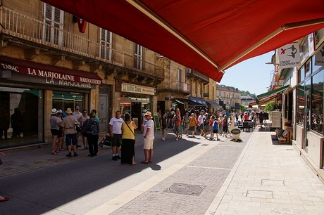
[[(139, 136), (135, 144), (135, 162), (137, 162), (135, 166), (122, 165), (120, 160), (114, 161), (111, 150), (108, 152), (99, 150), (99, 155), (96, 157), (80, 157), (61, 164), (54, 162), (52, 166), (2, 177), (0, 178), (1, 194), (10, 197), (11, 200), (6, 203), (6, 209), (1, 209), (1, 214), (11, 214), (12, 211), (16, 214), (24, 214), (25, 211), (30, 211), (31, 205), (34, 204), (42, 205), (43, 207), (37, 207), (37, 214), (44, 214), (144, 169), (161, 171), (162, 167), (158, 165), (158, 162), (201, 144), (199, 139), (193, 138), (190, 141), (189, 138), (182, 138), (175, 141), (174, 136), (168, 135), (166, 141), (162, 141), (160, 136), (156, 136), (153, 162), (150, 164), (140, 163), (144, 159), (144, 152), (141, 143), (142, 136)], [(37, 155), (33, 155), (30, 151), (30, 156)], [(66, 159), (66, 157), (55, 158)], [(26, 201), (32, 203), (26, 203)]]

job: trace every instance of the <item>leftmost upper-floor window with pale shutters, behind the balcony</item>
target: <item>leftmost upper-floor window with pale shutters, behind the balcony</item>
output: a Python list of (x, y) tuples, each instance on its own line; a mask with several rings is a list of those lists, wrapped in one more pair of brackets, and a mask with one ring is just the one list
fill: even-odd
[(63, 11), (49, 4), (44, 4), (44, 22), (44, 41), (61, 46), (63, 41)]

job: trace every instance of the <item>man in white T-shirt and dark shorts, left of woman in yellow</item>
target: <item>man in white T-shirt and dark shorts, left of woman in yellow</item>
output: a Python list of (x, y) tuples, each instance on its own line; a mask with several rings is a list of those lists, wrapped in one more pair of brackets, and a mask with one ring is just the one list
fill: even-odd
[(116, 116), (111, 118), (109, 122), (110, 131), (111, 131), (111, 138), (113, 139), (112, 148), (113, 148), (113, 160), (120, 159), (119, 156), (119, 148), (122, 141), (122, 129), (121, 126), (123, 125), (124, 119), (120, 118), (120, 110), (116, 111)]

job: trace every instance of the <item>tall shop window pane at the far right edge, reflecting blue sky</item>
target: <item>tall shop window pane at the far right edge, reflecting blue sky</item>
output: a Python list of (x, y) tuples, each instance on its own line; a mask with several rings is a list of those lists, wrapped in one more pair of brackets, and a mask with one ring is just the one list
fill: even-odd
[(324, 70), (313, 76), (311, 91), (311, 129), (323, 134)]

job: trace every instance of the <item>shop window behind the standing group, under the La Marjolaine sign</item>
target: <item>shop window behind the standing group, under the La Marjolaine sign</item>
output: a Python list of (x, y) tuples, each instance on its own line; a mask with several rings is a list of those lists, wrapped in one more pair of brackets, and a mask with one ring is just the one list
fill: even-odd
[(71, 108), (74, 111), (74, 107), (77, 105), (82, 111), (85, 109), (84, 100), (85, 96), (82, 93), (53, 91), (53, 108), (57, 110), (64, 111), (66, 108)]

